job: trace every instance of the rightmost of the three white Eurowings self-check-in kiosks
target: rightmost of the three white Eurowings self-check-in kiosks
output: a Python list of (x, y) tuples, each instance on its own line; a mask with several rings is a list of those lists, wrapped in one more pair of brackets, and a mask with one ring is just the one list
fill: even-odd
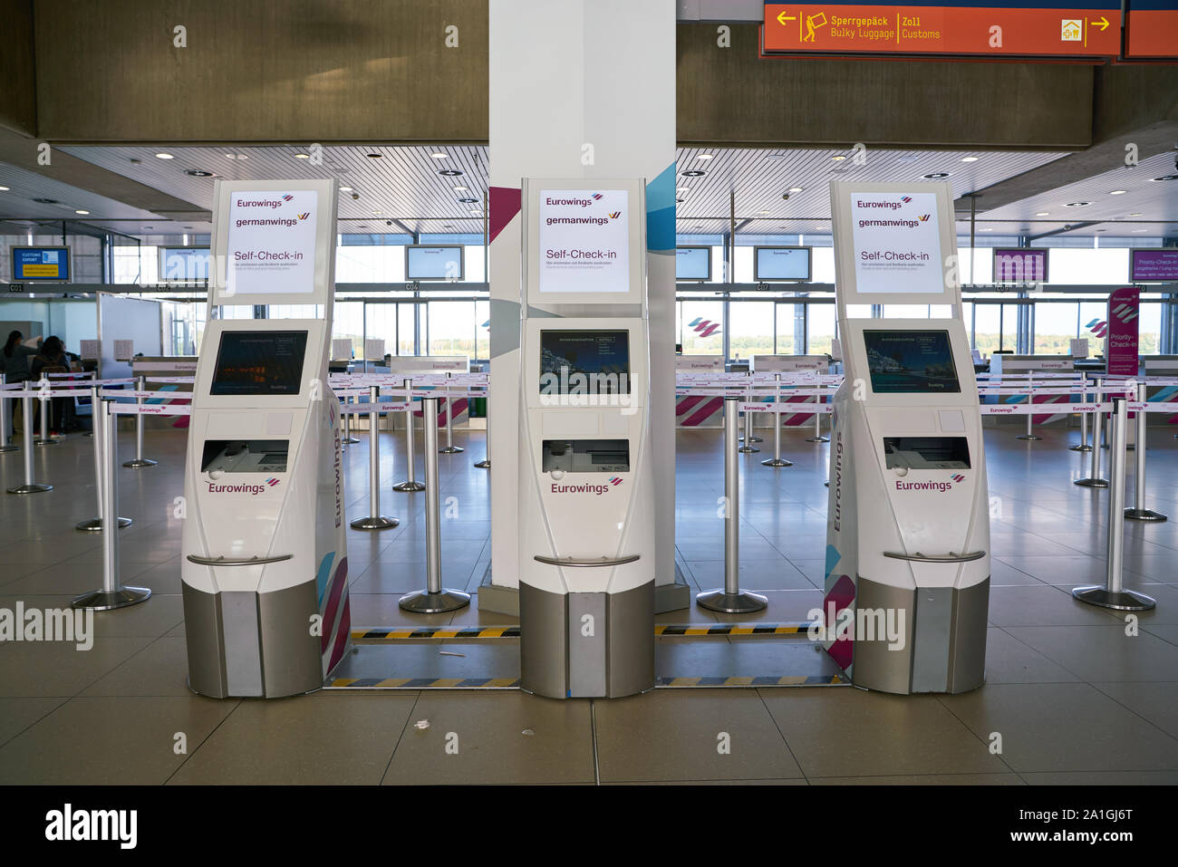
[[(945, 184), (833, 183), (839, 335), (825, 647), (868, 689), (981, 686), (990, 510)], [(946, 318), (855, 318), (860, 305)]]

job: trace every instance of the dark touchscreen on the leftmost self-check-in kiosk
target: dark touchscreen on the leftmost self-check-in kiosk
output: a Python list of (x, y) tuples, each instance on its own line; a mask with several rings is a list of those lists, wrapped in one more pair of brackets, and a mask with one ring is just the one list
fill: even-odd
[(226, 331), (217, 350), (211, 395), (297, 395), (306, 331)]

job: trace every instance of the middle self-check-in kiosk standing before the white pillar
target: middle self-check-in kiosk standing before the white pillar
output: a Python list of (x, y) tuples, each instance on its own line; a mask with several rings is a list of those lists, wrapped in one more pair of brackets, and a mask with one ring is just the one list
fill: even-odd
[(644, 186), (525, 180), (519, 654), (556, 699), (654, 687)]

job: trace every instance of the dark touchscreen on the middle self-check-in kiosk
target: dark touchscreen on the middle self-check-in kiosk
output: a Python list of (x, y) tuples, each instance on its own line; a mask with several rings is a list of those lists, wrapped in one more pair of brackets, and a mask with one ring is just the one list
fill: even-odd
[(540, 393), (629, 395), (630, 332), (542, 330)]

